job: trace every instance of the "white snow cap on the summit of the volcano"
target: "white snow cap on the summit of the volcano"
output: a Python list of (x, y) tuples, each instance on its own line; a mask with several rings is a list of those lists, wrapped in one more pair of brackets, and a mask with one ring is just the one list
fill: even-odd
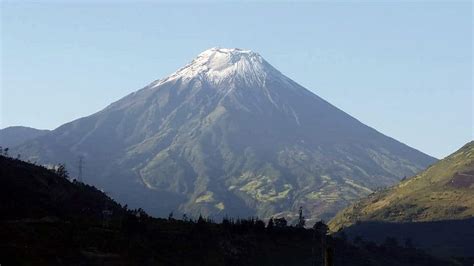
[(258, 53), (238, 48), (215, 47), (200, 53), (191, 63), (159, 84), (178, 78), (199, 78), (214, 85), (230, 80), (239, 80), (246, 85), (263, 85), (268, 75), (275, 73), (279, 72)]

